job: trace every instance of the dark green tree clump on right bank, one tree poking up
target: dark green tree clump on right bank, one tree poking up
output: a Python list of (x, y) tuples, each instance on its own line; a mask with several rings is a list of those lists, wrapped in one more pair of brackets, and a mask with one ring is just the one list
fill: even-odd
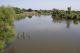
[(71, 7), (68, 7), (67, 11), (53, 9), (52, 16), (64, 19), (80, 19), (80, 11), (71, 11)]

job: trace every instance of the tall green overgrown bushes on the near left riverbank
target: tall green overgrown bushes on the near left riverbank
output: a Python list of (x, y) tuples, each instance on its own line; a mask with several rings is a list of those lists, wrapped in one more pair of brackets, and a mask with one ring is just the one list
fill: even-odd
[(12, 7), (0, 7), (0, 49), (10, 43), (15, 35), (13, 29), (13, 20), (15, 11)]

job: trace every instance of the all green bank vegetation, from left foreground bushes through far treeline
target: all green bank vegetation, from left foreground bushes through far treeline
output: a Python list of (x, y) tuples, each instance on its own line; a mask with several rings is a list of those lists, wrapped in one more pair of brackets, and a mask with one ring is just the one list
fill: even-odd
[(52, 15), (55, 19), (75, 19), (80, 20), (80, 11), (71, 11), (68, 7), (67, 11), (53, 10), (32, 10), (20, 9), (18, 7), (1, 6), (0, 7), (0, 50), (4, 49), (8, 43), (11, 43), (15, 37), (13, 26), (14, 19), (23, 18), (33, 15)]

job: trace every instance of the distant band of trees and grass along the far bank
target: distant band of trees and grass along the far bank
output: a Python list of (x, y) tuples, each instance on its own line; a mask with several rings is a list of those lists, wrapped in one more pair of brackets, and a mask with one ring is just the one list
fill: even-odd
[(32, 10), (30, 9), (20, 9), (14, 7), (16, 10), (16, 17), (22, 18), (26, 16), (40, 16), (40, 15), (52, 15), (55, 18), (64, 18), (64, 19), (77, 19), (80, 20), (80, 11), (71, 10), (71, 7), (68, 7), (67, 10), (59, 10), (59, 9), (52, 9), (52, 10)]

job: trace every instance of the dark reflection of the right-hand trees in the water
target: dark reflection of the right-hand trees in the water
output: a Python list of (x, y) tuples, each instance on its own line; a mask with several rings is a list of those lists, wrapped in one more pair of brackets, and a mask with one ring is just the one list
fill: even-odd
[(66, 28), (70, 28), (70, 24), (73, 23), (74, 25), (78, 25), (78, 23), (80, 22), (80, 20), (76, 20), (76, 19), (64, 19), (61, 17), (51, 17), (54, 23), (62, 23), (65, 22), (66, 23)]

